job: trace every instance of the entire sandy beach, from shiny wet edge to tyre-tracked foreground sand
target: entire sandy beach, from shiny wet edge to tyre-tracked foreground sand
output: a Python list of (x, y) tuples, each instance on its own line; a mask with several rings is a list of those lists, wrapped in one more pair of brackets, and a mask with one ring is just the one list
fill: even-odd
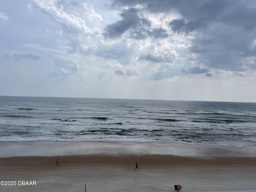
[[(0, 180), (9, 181), (0, 186), (2, 192), (84, 192), (85, 185), (86, 192), (170, 192), (175, 191), (174, 185), (178, 183), (186, 192), (256, 192), (254, 147), (238, 148), (237, 155), (234, 155), (235, 148), (220, 147), (216, 150), (213, 146), (94, 142), (0, 144)], [(20, 146), (21, 154), (11, 156), (10, 149), (16, 145)], [(77, 146), (76, 152), (65, 152), (63, 147), (66, 145), (74, 149)], [(50, 146), (52, 150), (48, 149)], [(144, 150), (139, 150), (139, 146)], [(167, 146), (173, 151), (166, 152)], [(33, 155), (31, 148), (34, 147), (38, 148), (40, 155), (36, 151)], [(27, 149), (24, 155), (21, 148)], [(52, 155), (56, 148), (61, 154)], [(186, 156), (189, 149), (190, 152), (194, 150), (193, 155)], [(209, 149), (212, 150), (211, 155), (206, 153)], [(179, 153), (173, 154), (174, 151)], [(56, 166), (57, 159), (60, 166)], [(136, 162), (139, 171), (134, 171)], [(16, 185), (10, 185), (12, 181), (16, 181)]]

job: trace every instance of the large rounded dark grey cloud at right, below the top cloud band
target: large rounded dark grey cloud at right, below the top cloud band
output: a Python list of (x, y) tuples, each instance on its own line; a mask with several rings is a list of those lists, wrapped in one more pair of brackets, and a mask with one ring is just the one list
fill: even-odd
[[(188, 48), (196, 54), (193, 60), (198, 64), (238, 72), (255, 70), (251, 64), (256, 56), (256, 46), (252, 46), (256, 38), (254, 33), (225, 26), (208, 31), (207, 36), (212, 39), (197, 36)], [(250, 62), (246, 62), (248, 59)]]

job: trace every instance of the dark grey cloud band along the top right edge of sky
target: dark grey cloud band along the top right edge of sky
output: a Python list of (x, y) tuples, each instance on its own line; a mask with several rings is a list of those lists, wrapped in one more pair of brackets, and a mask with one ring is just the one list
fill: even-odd
[[(240, 0), (112, 0), (114, 6), (144, 5), (152, 12), (178, 12), (186, 19), (188, 30), (206, 26), (210, 22), (222, 22), (242, 26), (245, 29), (256, 27), (256, 8)], [(170, 21), (171, 22), (171, 21)], [(184, 25), (180, 20), (176, 27)], [(177, 28), (176, 28), (177, 30)]]

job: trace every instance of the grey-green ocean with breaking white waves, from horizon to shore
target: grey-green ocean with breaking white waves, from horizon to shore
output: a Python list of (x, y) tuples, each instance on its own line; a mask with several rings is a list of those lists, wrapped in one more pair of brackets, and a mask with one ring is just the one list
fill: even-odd
[(0, 96), (0, 141), (256, 145), (256, 103)]

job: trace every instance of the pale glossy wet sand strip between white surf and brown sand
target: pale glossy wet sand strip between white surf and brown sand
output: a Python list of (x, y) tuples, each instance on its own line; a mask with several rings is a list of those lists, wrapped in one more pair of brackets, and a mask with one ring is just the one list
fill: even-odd
[(174, 155), (196, 158), (256, 157), (256, 146), (230, 147), (180, 143), (110, 143), (23, 141), (0, 142), (0, 158), (12, 156), (66, 156), (91, 154)]

